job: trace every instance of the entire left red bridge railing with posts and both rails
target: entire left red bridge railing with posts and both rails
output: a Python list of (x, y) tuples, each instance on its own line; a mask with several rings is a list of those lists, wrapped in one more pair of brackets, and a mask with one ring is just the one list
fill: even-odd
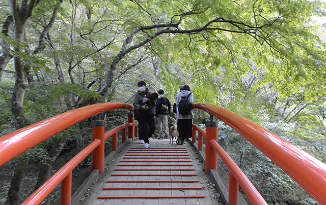
[[(79, 122), (100, 115), (103, 112), (117, 109), (133, 111), (134, 108), (133, 106), (122, 103), (103, 103), (86, 106), (48, 118), (2, 136), (0, 138), (0, 166)], [(39, 187), (22, 204), (40, 204), (60, 183), (62, 183), (61, 204), (71, 204), (72, 170), (89, 154), (93, 153), (93, 169), (99, 169), (99, 173), (103, 173), (104, 141), (112, 136), (113, 151), (117, 151), (118, 131), (122, 130), (122, 142), (126, 142), (126, 129), (128, 128), (128, 138), (132, 140), (134, 140), (135, 129), (137, 130), (137, 126), (134, 125), (132, 113), (128, 117), (128, 124), (116, 127), (107, 133), (105, 133), (104, 126), (105, 123), (102, 120), (92, 121), (93, 142), (59, 169), (55, 175)]]

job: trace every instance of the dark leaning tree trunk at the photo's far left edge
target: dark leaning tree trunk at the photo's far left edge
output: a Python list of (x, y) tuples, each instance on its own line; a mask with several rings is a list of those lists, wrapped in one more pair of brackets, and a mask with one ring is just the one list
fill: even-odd
[[(13, 22), (14, 19), (12, 16), (8, 16), (8, 18), (5, 20), (1, 31), (5, 37), (8, 37), (8, 33), (12, 29)], [(12, 55), (10, 54), (10, 45), (5, 38), (1, 41), (1, 47), (2, 47), (2, 51), (0, 55), (0, 82), (1, 82), (2, 74), (4, 73), (4, 70), (8, 62), (12, 58)]]

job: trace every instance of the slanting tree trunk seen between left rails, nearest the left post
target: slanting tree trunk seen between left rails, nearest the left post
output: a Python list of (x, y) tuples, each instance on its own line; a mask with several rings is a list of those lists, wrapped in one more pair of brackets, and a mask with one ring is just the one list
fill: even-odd
[(42, 164), (42, 166), (40, 168), (40, 174), (37, 178), (35, 190), (38, 189), (40, 186), (42, 186), (42, 184), (50, 178), (53, 162), (56, 161), (56, 159), (59, 156), (66, 141), (67, 141), (67, 139), (60, 139), (50, 149), (50, 151), (48, 153), (49, 160), (45, 164)]

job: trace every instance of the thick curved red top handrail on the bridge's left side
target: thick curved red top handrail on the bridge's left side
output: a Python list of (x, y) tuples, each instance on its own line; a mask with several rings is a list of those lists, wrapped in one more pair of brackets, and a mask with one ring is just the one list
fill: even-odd
[(102, 103), (85, 106), (48, 118), (0, 138), (0, 166), (49, 139), (51, 136), (84, 120), (116, 109), (133, 110), (133, 106), (123, 103)]

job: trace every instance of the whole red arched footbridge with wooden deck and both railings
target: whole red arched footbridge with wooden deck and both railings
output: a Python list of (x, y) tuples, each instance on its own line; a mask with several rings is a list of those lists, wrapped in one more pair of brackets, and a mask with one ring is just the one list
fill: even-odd
[[(267, 204), (218, 144), (218, 126), (213, 121), (215, 116), (274, 161), (319, 203), (326, 205), (326, 164), (250, 120), (208, 104), (193, 105), (193, 109), (205, 111), (211, 117), (206, 122), (206, 131), (193, 125), (192, 141), (185, 146), (171, 146), (168, 141), (153, 140), (149, 149), (143, 149), (141, 144), (134, 141), (135, 135), (137, 136), (137, 125), (134, 124), (132, 114), (134, 108), (122, 103), (103, 103), (66, 112), (2, 136), (0, 166), (79, 122), (118, 109), (130, 110), (127, 124), (105, 132), (104, 121), (92, 121), (92, 143), (22, 204), (41, 204), (60, 184), (61, 204), (216, 204), (217, 200), (212, 197), (211, 191), (205, 188), (204, 179), (207, 177), (216, 183), (225, 204), (246, 203), (238, 193), (239, 186), (252, 204)], [(120, 130), (122, 149), (117, 146), (117, 133)], [(104, 142), (108, 138), (112, 138), (113, 151), (105, 158)], [(78, 190), (72, 195), (72, 170), (90, 154), (94, 172), (78, 188), (79, 193), (90, 190), (88, 186), (92, 177), (101, 180), (98, 180), (96, 186), (92, 182), (91, 190), (94, 193), (80, 202)], [(196, 161), (198, 155), (205, 163), (205, 173)], [(221, 183), (216, 172), (218, 156), (229, 168), (227, 186)]]

